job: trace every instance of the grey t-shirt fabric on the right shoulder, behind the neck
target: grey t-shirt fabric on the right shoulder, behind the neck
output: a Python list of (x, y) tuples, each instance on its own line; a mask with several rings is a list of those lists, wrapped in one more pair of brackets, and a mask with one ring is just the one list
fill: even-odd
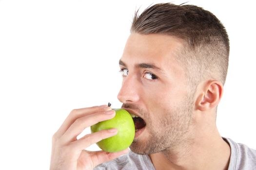
[(224, 140), (229, 143), (231, 148), (230, 168), (234, 167), (234, 170), (253, 170), (256, 167), (255, 149), (242, 143), (236, 143), (230, 138)]

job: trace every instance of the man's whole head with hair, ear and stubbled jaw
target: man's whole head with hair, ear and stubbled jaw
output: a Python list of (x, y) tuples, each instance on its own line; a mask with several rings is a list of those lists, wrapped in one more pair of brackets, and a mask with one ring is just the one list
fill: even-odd
[(156, 4), (135, 14), (119, 65), (118, 99), (146, 126), (131, 150), (150, 154), (185, 143), (198, 126), (214, 124), (229, 55), (228, 35), (210, 12)]

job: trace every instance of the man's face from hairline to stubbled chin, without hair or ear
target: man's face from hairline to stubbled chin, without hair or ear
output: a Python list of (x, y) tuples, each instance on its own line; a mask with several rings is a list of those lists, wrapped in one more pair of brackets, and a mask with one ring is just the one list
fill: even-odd
[(119, 66), (123, 75), (118, 100), (130, 113), (144, 120), (136, 123), (130, 149), (151, 154), (184, 140), (193, 110), (193, 95), (184, 68), (175, 59), (179, 39), (160, 34), (129, 36)]

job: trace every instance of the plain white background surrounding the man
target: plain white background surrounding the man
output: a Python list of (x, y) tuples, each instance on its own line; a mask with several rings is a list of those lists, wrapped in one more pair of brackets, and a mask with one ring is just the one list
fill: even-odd
[[(51, 137), (74, 108), (117, 100), (133, 14), (151, 0), (0, 0), (0, 169), (47, 170)], [(180, 4), (186, 0), (176, 0)], [(253, 1), (190, 0), (230, 37), (220, 134), (256, 149)], [(86, 130), (89, 133), (88, 130)], [(96, 145), (89, 148), (97, 150)]]

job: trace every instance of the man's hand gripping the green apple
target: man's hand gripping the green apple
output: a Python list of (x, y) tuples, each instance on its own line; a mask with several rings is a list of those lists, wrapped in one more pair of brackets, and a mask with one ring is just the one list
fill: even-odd
[(102, 139), (117, 135), (117, 129), (102, 130), (77, 139), (85, 128), (112, 119), (115, 114), (107, 105), (72, 110), (52, 138), (50, 170), (93, 170), (103, 162), (128, 153), (128, 149), (117, 153), (84, 150)]

